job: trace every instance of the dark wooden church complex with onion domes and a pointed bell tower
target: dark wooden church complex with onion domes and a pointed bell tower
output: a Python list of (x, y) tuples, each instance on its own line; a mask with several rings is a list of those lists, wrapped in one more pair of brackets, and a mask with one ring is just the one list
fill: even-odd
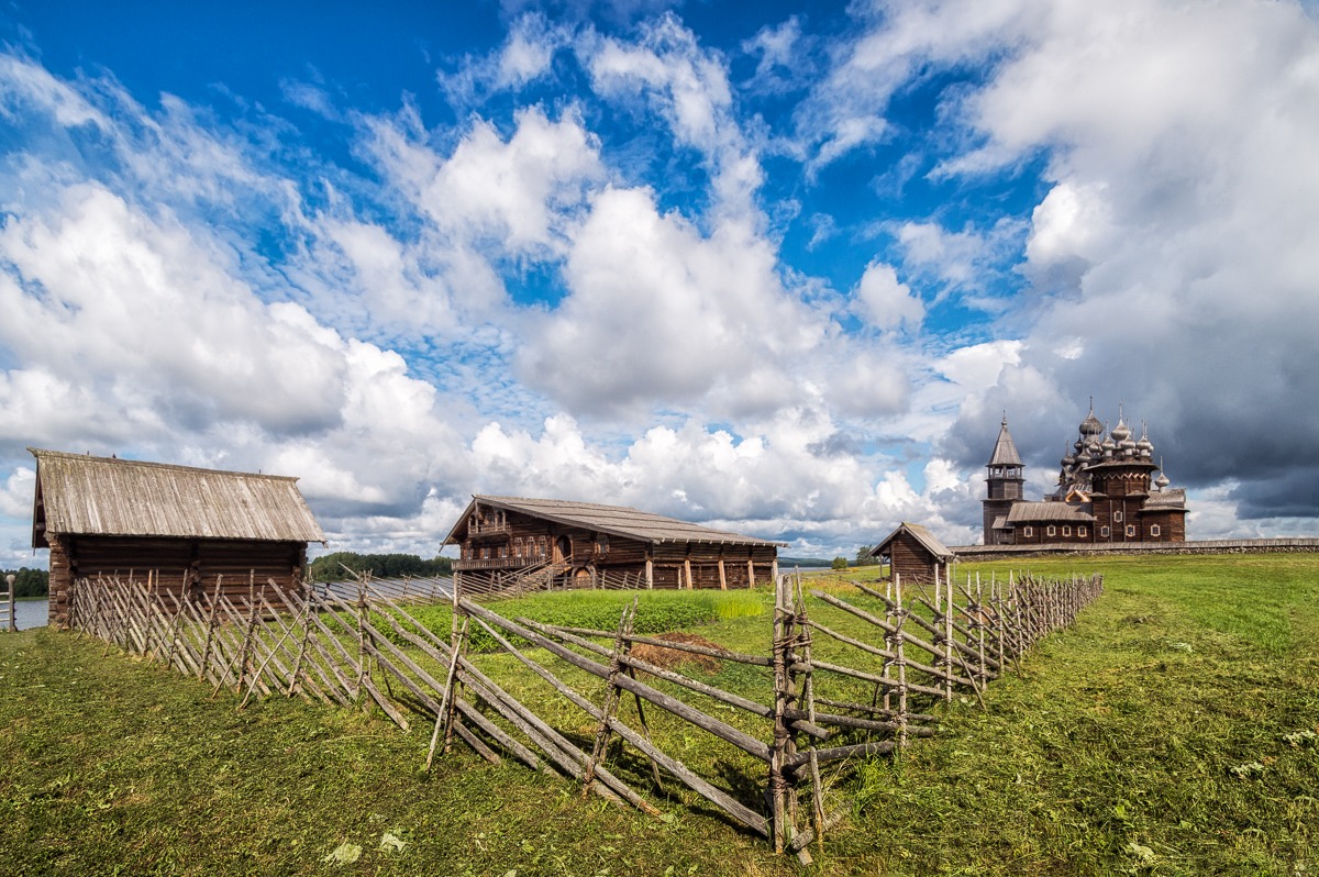
[[(1115, 545), (1186, 541), (1186, 491), (1169, 489), (1163, 462), (1145, 425), (1141, 438), (1126, 425), (1121, 406), (1117, 426), (1095, 417), (1082, 421), (1080, 437), (1064, 451), (1058, 488), (1041, 501), (1021, 492), (1022, 463), (1004, 414), (987, 468), (985, 545)], [(1154, 473), (1158, 472), (1158, 477)]]

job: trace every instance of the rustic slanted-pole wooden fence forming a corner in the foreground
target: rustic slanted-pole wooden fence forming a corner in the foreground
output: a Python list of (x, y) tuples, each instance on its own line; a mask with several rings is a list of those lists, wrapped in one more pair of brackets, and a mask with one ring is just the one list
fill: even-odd
[[(615, 630), (596, 630), (505, 619), (455, 596), (452, 629), (435, 632), (396, 599), (400, 593), (368, 579), (356, 595), (253, 583), (237, 603), (220, 584), (218, 578), (199, 601), (181, 601), (149, 582), (83, 579), (74, 587), (70, 625), (206, 679), (214, 691), (228, 686), (243, 698), (239, 708), (253, 695), (301, 695), (375, 704), (404, 729), (408, 715), (419, 717), (430, 731), (427, 768), (437, 750), (451, 752), (462, 739), (492, 762), (513, 757), (555, 770), (580, 782), (583, 795), (652, 815), (660, 811), (637, 786), (660, 790), (667, 774), (803, 862), (809, 844), (823, 843), (849, 806), (831, 799), (838, 795), (822, 779), (823, 765), (900, 752), (933, 736), (931, 707), (955, 694), (973, 694), (984, 706), (988, 682), (1103, 591), (1099, 575), (1012, 575), (930, 588), (897, 580), (884, 591), (853, 583), (864, 596), (844, 600), (783, 575), (774, 587), (768, 654), (740, 654), (636, 634), (636, 597)], [(570, 739), (584, 740), (576, 724), (554, 727), (526, 706), (534, 703), (529, 695), (513, 696), (481, 669), (484, 655), (468, 649), (477, 629), (529, 671), (525, 679), (534, 677), (590, 719), (590, 745)], [(740, 675), (758, 680), (751, 688), (768, 691), (769, 702), (657, 666), (634, 654), (641, 645), (741, 665)], [(603, 682), (603, 694), (586, 696), (580, 683), (565, 680), (570, 677), (596, 679), (591, 688)], [(625, 720), (629, 698), (633, 717)], [(729, 753), (721, 761), (740, 765), (741, 781), (703, 777), (699, 765), (666, 752), (673, 735), (657, 740), (650, 710), (715, 737)], [(611, 765), (611, 741), (630, 745), (648, 770), (628, 775), (620, 756)]]

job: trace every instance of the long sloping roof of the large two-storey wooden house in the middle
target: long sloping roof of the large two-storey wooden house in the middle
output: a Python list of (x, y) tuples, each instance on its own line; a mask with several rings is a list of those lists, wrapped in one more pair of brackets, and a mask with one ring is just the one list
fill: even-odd
[(445, 537), (445, 545), (462, 542), (467, 521), (476, 504), (496, 509), (530, 514), (532, 517), (579, 526), (596, 533), (607, 533), (627, 539), (642, 542), (712, 542), (720, 545), (765, 545), (787, 547), (786, 542), (770, 542), (752, 535), (739, 535), (727, 530), (715, 530), (699, 524), (689, 524), (653, 512), (642, 512), (627, 505), (601, 505), (599, 502), (572, 502), (568, 500), (536, 500), (517, 496), (472, 495), (472, 501), (463, 509), (458, 522)]

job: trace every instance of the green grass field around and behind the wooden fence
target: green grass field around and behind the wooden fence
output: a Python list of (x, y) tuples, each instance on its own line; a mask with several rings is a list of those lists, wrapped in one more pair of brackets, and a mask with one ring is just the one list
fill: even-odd
[[(1319, 557), (1030, 568), (1103, 571), (1107, 592), (1043, 642), (1021, 678), (989, 686), (988, 713), (973, 698), (955, 702), (940, 735), (902, 761), (831, 774), (835, 794), (856, 803), (810, 870), (1319, 873)], [(692, 629), (731, 649), (768, 646), (769, 595), (712, 605), (704, 617), (718, 620)], [(600, 611), (616, 617), (616, 608)], [(575, 786), (512, 761), (487, 765), (462, 745), (426, 774), (429, 727), (404, 733), (379, 713), (284, 699), (239, 712), (228, 692), (210, 700), (208, 686), (103, 651), (67, 633), (0, 636), (3, 874), (802, 870), (675, 783), (646, 791), (665, 812), (656, 820), (583, 802)], [(590, 736), (584, 715), (538, 694), (509, 658), (481, 663), (559, 727)], [(749, 694), (760, 684), (733, 665), (714, 683)], [(662, 748), (727, 785), (762, 779), (704, 735), (656, 725)], [(630, 757), (619, 768), (641, 775)], [(386, 835), (402, 848), (383, 849)], [(360, 856), (327, 861), (344, 844)]]

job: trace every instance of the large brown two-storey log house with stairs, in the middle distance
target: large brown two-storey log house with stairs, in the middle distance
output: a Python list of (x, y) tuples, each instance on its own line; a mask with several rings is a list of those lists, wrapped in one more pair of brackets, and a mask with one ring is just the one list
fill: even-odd
[(778, 546), (620, 505), (474, 496), (445, 545), (464, 591), (748, 588)]

